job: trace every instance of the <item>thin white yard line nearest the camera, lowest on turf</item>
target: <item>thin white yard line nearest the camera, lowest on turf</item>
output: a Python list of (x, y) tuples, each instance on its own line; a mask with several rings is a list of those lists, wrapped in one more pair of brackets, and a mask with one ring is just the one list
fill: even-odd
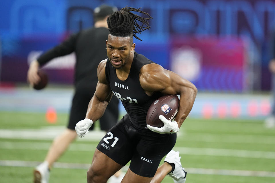
[[(12, 161), (0, 160), (0, 166), (19, 166), (19, 167), (35, 167), (40, 162), (35, 161)], [(88, 169), (90, 164), (81, 163), (54, 163), (54, 168), (69, 169)], [(123, 171), (127, 171), (129, 166), (124, 166)], [(209, 174), (209, 175), (227, 175), (227, 176), (252, 176), (252, 177), (275, 177), (275, 172), (265, 171), (248, 171), (248, 170), (224, 170), (224, 169), (208, 169), (208, 168), (185, 168), (188, 174)]]

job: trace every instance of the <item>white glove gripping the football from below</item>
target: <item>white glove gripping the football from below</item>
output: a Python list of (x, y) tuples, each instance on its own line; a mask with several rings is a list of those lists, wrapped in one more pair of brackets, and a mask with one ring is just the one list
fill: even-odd
[(178, 129), (178, 123), (175, 120), (174, 121), (169, 121), (168, 119), (166, 119), (162, 115), (160, 115), (159, 118), (164, 123), (164, 126), (158, 128), (158, 127), (151, 126), (151, 125), (147, 124), (147, 128), (149, 128), (153, 132), (160, 133), (160, 134), (178, 132), (178, 130), (179, 130)]

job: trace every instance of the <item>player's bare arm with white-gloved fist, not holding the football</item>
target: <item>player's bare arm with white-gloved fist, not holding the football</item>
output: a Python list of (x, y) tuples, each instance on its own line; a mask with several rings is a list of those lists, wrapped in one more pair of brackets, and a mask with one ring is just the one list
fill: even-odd
[(84, 137), (88, 133), (88, 130), (92, 126), (93, 121), (101, 118), (113, 96), (113, 92), (111, 91), (105, 75), (106, 63), (107, 59), (99, 63), (97, 68), (98, 82), (96, 91), (89, 102), (85, 119), (79, 121), (75, 126), (76, 133), (80, 137)]

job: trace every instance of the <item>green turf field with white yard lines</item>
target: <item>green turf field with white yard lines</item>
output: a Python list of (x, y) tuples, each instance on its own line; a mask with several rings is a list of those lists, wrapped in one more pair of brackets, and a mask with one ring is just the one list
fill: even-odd
[[(33, 167), (44, 160), (55, 135), (49, 132), (62, 131), (67, 118), (58, 114), (49, 124), (42, 113), (0, 112), (0, 182), (32, 182)], [(71, 144), (52, 169), (50, 183), (87, 182), (99, 141), (92, 133)], [(188, 172), (186, 183), (275, 182), (275, 129), (264, 128), (261, 120), (187, 118), (174, 150)]]

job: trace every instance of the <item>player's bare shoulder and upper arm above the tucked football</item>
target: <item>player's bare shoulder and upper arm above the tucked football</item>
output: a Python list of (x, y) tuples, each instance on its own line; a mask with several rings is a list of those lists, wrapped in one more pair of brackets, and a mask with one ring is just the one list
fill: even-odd
[(165, 94), (180, 94), (195, 86), (188, 80), (157, 64), (149, 64), (141, 69), (140, 83), (147, 92), (160, 91)]

